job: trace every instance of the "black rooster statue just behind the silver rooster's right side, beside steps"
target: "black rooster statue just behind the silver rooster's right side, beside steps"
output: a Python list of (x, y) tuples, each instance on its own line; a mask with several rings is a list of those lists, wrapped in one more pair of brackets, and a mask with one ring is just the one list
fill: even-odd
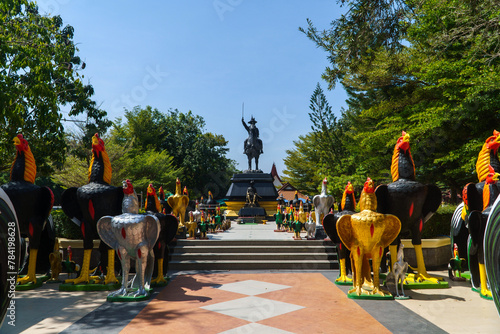
[(153, 248), (155, 259), (157, 261), (158, 274), (156, 278), (151, 281), (151, 284), (155, 285), (162, 285), (167, 283), (167, 281), (163, 277), (165, 252), (167, 252), (168, 260), (168, 244), (175, 238), (175, 235), (177, 234), (177, 228), (179, 226), (179, 221), (174, 215), (163, 214), (160, 211), (160, 200), (156, 195), (155, 188), (152, 184), (150, 184), (147, 190), (146, 212), (148, 214), (154, 215), (160, 221), (160, 235)]

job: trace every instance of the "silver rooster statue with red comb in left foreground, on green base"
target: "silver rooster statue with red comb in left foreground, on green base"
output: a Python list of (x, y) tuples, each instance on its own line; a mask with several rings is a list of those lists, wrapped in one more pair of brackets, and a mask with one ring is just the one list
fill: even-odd
[[(130, 190), (130, 183), (123, 182), (124, 190)], [(128, 188), (128, 189), (127, 189)], [(118, 216), (105, 216), (97, 222), (101, 239), (118, 252), (122, 265), (122, 286), (108, 295), (108, 301), (143, 300), (149, 298), (149, 285), (153, 275), (153, 247), (160, 234), (158, 218), (150, 214), (138, 214), (139, 204), (135, 191), (125, 192), (124, 212)], [(128, 205), (125, 205), (125, 204)], [(137, 290), (129, 289), (128, 275), (130, 259), (135, 259)], [(117, 298), (117, 299), (115, 299)]]

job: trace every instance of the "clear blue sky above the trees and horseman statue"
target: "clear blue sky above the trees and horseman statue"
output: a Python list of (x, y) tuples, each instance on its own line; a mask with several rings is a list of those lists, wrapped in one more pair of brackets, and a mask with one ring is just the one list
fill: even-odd
[[(111, 120), (124, 108), (150, 105), (191, 110), (205, 131), (229, 141), (228, 157), (247, 168), (241, 124), (257, 120), (264, 154), (259, 167), (285, 169), (286, 150), (311, 129), (309, 99), (319, 82), (333, 110), (345, 106), (339, 87), (321, 79), (327, 54), (298, 28), (311, 19), (328, 28), (335, 0), (40, 0), (41, 13), (61, 15), (87, 67), (84, 80)], [(83, 117), (82, 117), (83, 118)], [(67, 124), (70, 125), (70, 124)], [(314, 166), (311, 166), (314, 168)]]

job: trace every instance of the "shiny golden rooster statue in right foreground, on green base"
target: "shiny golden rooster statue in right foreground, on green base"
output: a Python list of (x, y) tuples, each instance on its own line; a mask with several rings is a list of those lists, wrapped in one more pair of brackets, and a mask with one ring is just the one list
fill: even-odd
[[(377, 213), (377, 197), (373, 181), (368, 178), (359, 199), (361, 212), (353, 215), (344, 215), (337, 222), (337, 232), (351, 251), (353, 268), (353, 289), (349, 294), (355, 293), (358, 297), (387, 296), (379, 288), (379, 267), (384, 248), (396, 239), (401, 230), (401, 222), (394, 215)], [(369, 259), (373, 266), (373, 290), (363, 289), (363, 279), (371, 281)], [(356, 298), (355, 295), (350, 295)]]

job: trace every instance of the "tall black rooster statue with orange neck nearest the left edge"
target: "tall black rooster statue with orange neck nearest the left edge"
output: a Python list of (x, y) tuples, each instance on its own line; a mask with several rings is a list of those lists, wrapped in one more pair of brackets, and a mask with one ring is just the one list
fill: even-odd
[[(46, 221), (54, 204), (54, 194), (47, 187), (35, 185), (36, 164), (28, 141), (23, 135), (14, 137), (16, 158), (10, 169), (10, 182), (1, 186), (14, 205), (19, 222), (21, 237), (29, 238), (28, 273), (18, 279), (19, 284), (37, 283), (36, 264), (41, 243), (52, 243), (48, 238), (43, 238)], [(48, 228), (48, 226), (47, 226)], [(43, 239), (43, 240), (42, 240)], [(50, 249), (54, 245), (50, 246)], [(47, 259), (48, 262), (48, 254)]]

